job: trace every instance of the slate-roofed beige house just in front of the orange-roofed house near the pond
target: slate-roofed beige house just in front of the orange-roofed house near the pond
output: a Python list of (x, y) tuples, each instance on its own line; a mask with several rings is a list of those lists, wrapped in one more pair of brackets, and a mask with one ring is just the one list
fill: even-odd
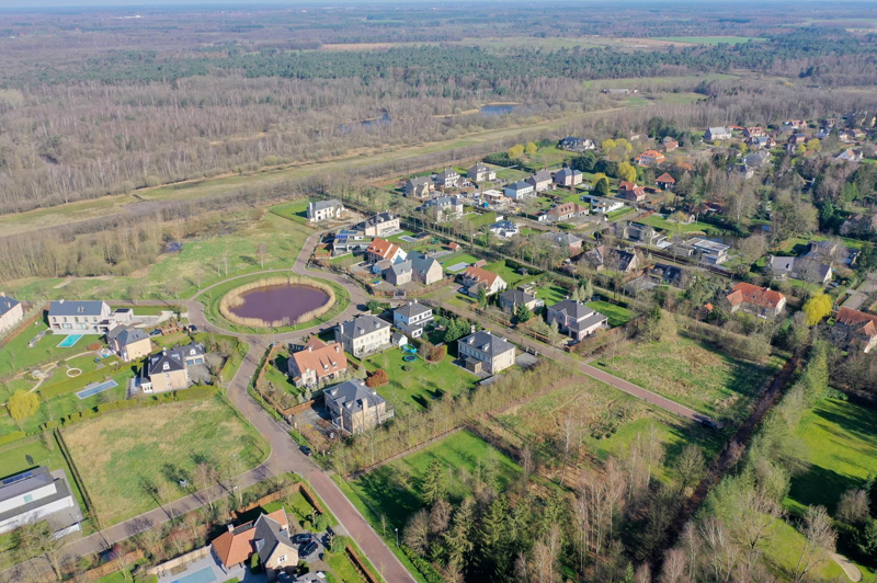
[(332, 387), (323, 399), (332, 423), (351, 434), (373, 430), (395, 414), (386, 399), (358, 378)]

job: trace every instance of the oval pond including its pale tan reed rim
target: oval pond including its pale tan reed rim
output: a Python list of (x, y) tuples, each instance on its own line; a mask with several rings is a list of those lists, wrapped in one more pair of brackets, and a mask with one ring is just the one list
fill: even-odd
[(333, 298), (330, 290), (307, 284), (270, 284), (234, 293), (224, 316), (235, 323), (280, 327), (317, 318)]

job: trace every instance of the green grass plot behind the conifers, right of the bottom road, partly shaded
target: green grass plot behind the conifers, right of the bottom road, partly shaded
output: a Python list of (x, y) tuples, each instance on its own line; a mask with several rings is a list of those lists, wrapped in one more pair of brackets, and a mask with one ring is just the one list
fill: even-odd
[(399, 527), (401, 530), (408, 517), (423, 507), (419, 483), (433, 460), (438, 460), (448, 470), (445, 475), (451, 476), (446, 482), (447, 492), (454, 504), (472, 493), (471, 482), (465, 483), (460, 479), (464, 470), (468, 476), (475, 476), (479, 468), (483, 472), (487, 466), (492, 466), (496, 468), (498, 492), (521, 471), (517, 464), (499, 450), (471, 433), (460, 431), (350, 483), (376, 514), (387, 517), (390, 529)]

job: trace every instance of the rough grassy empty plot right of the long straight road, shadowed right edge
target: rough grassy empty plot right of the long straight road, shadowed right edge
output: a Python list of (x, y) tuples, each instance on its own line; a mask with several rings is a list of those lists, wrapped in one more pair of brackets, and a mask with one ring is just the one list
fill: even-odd
[(716, 419), (737, 419), (750, 400), (781, 367), (772, 356), (766, 365), (740, 361), (701, 342), (636, 343), (596, 366)]

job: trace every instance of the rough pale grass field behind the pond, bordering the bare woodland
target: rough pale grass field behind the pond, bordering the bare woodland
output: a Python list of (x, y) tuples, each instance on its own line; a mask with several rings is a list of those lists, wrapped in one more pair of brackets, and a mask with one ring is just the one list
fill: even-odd
[[(241, 217), (238, 217), (241, 218)], [(4, 290), (23, 299), (180, 299), (191, 298), (210, 284), (262, 271), (259, 245), (265, 245), (265, 270), (291, 267), (309, 231), (267, 214), (259, 221), (234, 222), (225, 232), (182, 241), (176, 253), (164, 253), (148, 268), (128, 276), (39, 278), (5, 282)], [(201, 278), (201, 287), (198, 287)]]

